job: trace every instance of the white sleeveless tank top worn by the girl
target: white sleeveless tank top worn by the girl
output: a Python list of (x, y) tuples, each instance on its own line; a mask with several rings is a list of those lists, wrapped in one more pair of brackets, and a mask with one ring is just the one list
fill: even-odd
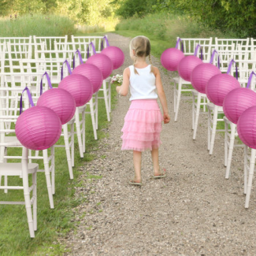
[(139, 75), (135, 74), (134, 66), (130, 65), (130, 101), (135, 99), (153, 99), (158, 98), (155, 86), (155, 76), (150, 72), (151, 65), (144, 69), (137, 69)]

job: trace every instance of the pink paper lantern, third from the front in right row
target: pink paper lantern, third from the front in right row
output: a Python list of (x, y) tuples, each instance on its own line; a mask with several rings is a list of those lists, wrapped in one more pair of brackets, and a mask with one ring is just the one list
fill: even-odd
[(240, 88), (240, 83), (235, 77), (228, 74), (213, 76), (206, 84), (206, 95), (213, 104), (223, 106), (223, 101), (228, 92)]

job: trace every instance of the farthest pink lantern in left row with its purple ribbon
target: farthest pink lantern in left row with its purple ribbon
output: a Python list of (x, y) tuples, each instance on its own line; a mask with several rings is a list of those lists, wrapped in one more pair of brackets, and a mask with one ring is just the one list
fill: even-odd
[(102, 39), (102, 48), (103, 48), (103, 41), (106, 40), (106, 48), (102, 50), (102, 54), (105, 54), (113, 63), (113, 69), (118, 69), (121, 65), (124, 64), (124, 53), (123, 51), (117, 46), (109, 46), (109, 41), (106, 36)]

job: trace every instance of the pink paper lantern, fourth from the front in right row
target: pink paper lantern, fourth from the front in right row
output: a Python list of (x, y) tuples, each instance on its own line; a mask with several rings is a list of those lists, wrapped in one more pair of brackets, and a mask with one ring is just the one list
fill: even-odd
[(221, 70), (210, 63), (199, 64), (191, 72), (191, 84), (196, 91), (206, 93), (206, 84), (215, 75), (221, 74)]

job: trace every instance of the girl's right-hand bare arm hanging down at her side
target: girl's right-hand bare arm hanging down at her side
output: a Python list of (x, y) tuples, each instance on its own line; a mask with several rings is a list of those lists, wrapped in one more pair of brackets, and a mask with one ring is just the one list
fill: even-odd
[(156, 78), (156, 87), (157, 87), (157, 90), (158, 90), (158, 97), (160, 99), (161, 107), (162, 107), (163, 112), (164, 112), (164, 123), (168, 124), (169, 121), (170, 121), (169, 111), (168, 111), (165, 91), (164, 91), (164, 88), (163, 88), (162, 83), (161, 83), (160, 72), (159, 72), (159, 69), (157, 67), (154, 67), (154, 76)]

